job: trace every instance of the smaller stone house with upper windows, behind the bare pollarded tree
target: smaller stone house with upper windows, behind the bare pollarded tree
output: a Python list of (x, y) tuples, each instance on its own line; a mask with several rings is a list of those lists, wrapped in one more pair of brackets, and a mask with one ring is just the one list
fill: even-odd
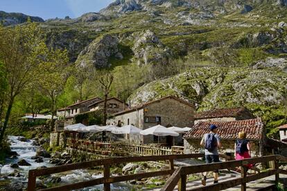
[[(97, 101), (95, 103), (92, 103), (91, 105), (88, 106), (89, 111), (103, 109), (104, 108), (104, 102), (105, 102), (105, 100), (101, 100), (101, 101)], [(109, 113), (109, 114), (119, 113), (122, 110), (125, 110), (125, 108), (128, 108), (128, 104), (117, 99), (116, 97), (110, 97), (107, 99), (107, 113)]]

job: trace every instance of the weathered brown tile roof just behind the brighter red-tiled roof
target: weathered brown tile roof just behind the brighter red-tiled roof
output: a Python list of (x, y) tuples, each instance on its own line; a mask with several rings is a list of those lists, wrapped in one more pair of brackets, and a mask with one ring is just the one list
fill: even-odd
[(200, 112), (194, 115), (195, 119), (208, 119), (208, 118), (220, 118), (220, 117), (236, 117), (241, 112), (246, 110), (245, 108), (222, 108), (208, 110)]

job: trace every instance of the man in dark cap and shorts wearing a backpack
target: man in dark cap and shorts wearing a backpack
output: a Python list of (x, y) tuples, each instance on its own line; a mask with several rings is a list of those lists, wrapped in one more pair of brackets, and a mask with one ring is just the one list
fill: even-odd
[[(209, 133), (206, 133), (200, 142), (202, 146), (205, 146), (205, 162), (207, 164), (220, 162), (218, 148), (221, 147), (221, 144), (219, 135), (216, 133), (217, 128), (216, 125), (211, 124), (209, 126)], [(202, 185), (206, 185), (207, 172), (203, 173), (201, 183)], [(214, 171), (214, 183), (218, 183), (218, 170)]]

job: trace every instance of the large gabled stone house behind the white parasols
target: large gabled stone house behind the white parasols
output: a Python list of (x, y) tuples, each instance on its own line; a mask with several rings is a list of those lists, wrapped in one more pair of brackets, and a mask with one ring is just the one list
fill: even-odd
[[(157, 124), (182, 128), (186, 126), (192, 127), (194, 110), (193, 104), (168, 96), (115, 113), (114, 118), (109, 119), (107, 124), (117, 126), (132, 124), (141, 129), (150, 128)], [(170, 136), (159, 138), (154, 135), (126, 135), (125, 138), (136, 144), (160, 142), (171, 145), (173, 142), (173, 138)], [(175, 137), (175, 144), (180, 142), (182, 142), (182, 135)]]

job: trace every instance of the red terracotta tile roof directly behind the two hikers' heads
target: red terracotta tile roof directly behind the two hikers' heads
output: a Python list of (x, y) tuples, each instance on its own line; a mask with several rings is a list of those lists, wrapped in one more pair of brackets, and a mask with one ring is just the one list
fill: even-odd
[(201, 139), (205, 133), (209, 133), (211, 124), (218, 126), (221, 139), (234, 140), (240, 131), (245, 131), (250, 140), (260, 140), (263, 135), (263, 122), (261, 118), (256, 118), (232, 122), (199, 122), (184, 135), (184, 139)]

